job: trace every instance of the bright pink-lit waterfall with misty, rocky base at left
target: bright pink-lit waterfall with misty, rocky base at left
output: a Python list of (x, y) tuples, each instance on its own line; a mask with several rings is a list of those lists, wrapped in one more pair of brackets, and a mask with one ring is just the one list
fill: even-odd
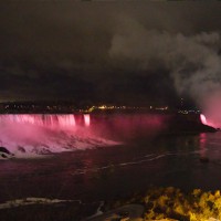
[(0, 115), (0, 158), (35, 157), (116, 143), (91, 130), (88, 114)]

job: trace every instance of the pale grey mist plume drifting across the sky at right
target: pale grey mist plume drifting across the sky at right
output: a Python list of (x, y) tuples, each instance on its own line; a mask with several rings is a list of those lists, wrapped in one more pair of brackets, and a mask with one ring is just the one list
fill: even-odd
[(203, 109), (208, 96), (221, 91), (220, 34), (191, 35), (146, 29), (130, 18), (122, 19), (112, 40), (109, 55), (136, 69), (166, 69), (180, 96), (189, 95)]

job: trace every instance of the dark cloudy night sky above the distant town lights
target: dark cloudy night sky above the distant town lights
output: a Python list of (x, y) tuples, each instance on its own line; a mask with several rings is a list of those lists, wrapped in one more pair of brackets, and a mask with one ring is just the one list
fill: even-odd
[(0, 102), (202, 104), (220, 88), (220, 11), (217, 1), (1, 2)]

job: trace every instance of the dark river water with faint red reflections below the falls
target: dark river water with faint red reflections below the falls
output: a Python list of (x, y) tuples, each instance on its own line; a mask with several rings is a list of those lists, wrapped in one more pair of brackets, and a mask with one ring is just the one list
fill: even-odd
[(0, 161), (0, 201), (44, 197), (113, 200), (173, 186), (221, 189), (221, 133), (164, 135), (127, 144)]

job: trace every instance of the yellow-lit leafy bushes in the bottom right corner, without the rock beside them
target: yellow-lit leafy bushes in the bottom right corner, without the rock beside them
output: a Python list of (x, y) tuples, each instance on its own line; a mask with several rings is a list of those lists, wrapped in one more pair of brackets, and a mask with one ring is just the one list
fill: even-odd
[(179, 189), (155, 188), (144, 198), (145, 220), (175, 219), (180, 221), (221, 220), (220, 191), (203, 192), (194, 189), (185, 194)]

